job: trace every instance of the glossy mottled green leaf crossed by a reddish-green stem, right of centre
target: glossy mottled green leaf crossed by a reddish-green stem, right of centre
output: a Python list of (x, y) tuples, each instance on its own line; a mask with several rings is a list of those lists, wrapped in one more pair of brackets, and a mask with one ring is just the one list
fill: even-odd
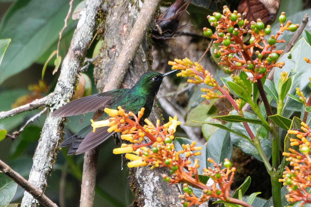
[[(232, 111), (232, 114), (236, 113), (236, 111)], [(257, 118), (256, 115), (249, 113), (249, 112), (244, 112), (244, 116), (247, 118), (255, 119)], [(271, 157), (271, 139), (268, 139), (268, 132), (265, 128), (263, 128), (261, 125), (258, 124), (248, 124), (249, 128), (253, 133), (256, 133), (255, 136), (257, 136), (260, 140), (260, 145), (262, 146), (262, 149), (264, 153), (266, 154), (268, 160)], [(231, 130), (238, 130), (240, 133), (243, 133), (244, 136), (248, 136), (248, 133), (243, 125), (243, 123), (233, 123)], [(250, 137), (248, 139), (245, 139), (241, 136), (238, 136), (236, 133), (230, 133), (231, 137), (231, 142), (233, 146), (239, 148), (244, 154), (254, 156), (257, 160), (262, 161), (257, 149), (253, 144), (249, 141)]]

